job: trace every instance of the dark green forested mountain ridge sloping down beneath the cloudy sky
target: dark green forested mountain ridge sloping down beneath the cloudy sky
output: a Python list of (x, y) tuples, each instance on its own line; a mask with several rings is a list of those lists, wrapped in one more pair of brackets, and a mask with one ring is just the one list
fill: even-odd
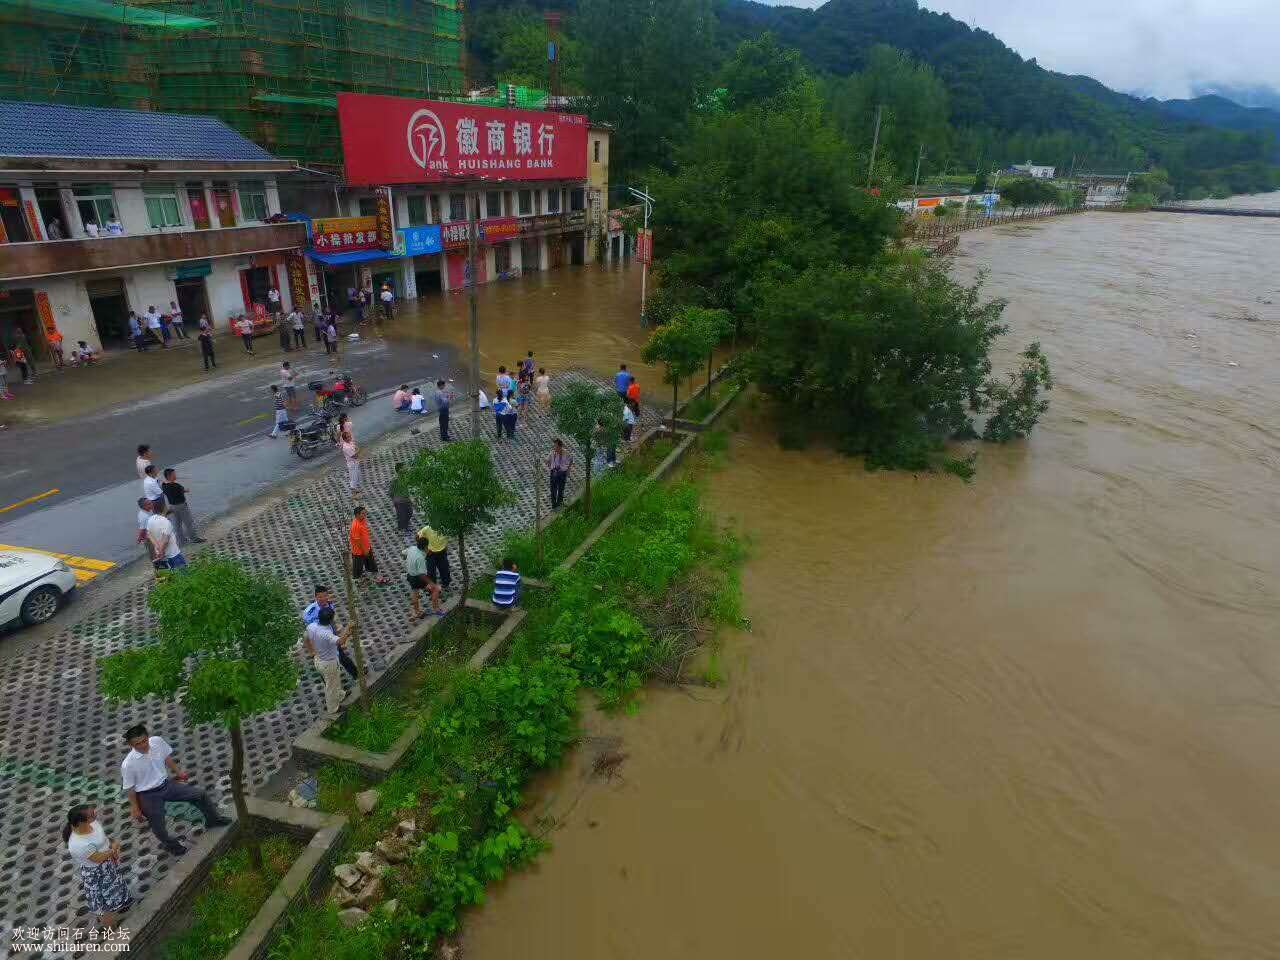
[[(547, 1), (532, 0), (536, 6)], [(558, 4), (570, 23), (580, 1)], [(474, 0), (468, 9), (516, 5), (524, 4)], [(1158, 165), (1184, 193), (1197, 187), (1248, 192), (1280, 186), (1272, 163), (1276, 128), (1265, 113), (1212, 104), (1169, 108), (1089, 77), (1055, 73), (1024, 60), (987, 31), (920, 9), (916, 0), (828, 0), (813, 10), (714, 0), (714, 9), (723, 55), (768, 31), (823, 74), (859, 72), (881, 44), (929, 64), (947, 88), (955, 131), (948, 155), (961, 169), (1025, 160), (1106, 172)], [(472, 52), (484, 58), (475, 46)]]

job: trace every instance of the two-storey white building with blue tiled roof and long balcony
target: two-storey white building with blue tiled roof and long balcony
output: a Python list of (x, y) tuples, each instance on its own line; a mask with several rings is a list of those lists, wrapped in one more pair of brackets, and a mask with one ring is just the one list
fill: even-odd
[(279, 191), (312, 177), (211, 116), (0, 100), (0, 343), (127, 347), (129, 311), (170, 302), (223, 333), (271, 288), (305, 305)]

